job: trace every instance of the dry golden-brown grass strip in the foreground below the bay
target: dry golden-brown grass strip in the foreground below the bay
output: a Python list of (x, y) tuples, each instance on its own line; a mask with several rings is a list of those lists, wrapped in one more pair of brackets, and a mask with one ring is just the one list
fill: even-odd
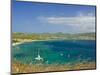
[(95, 62), (77, 63), (77, 64), (53, 64), (53, 65), (27, 65), (19, 62), (12, 64), (12, 73), (29, 73), (29, 72), (50, 72), (50, 71), (67, 71), (67, 70), (82, 70), (82, 69), (95, 69)]

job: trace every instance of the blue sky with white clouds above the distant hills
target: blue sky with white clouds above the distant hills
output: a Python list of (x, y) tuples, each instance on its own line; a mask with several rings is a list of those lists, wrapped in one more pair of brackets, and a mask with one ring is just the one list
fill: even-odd
[(95, 6), (13, 1), (12, 31), (95, 32)]

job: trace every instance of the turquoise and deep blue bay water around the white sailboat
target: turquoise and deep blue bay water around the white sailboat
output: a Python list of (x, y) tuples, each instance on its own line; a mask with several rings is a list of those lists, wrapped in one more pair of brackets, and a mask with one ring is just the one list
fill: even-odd
[[(25, 64), (65, 64), (95, 62), (95, 40), (55, 40), (27, 42), (12, 47), (13, 60)], [(36, 60), (36, 57), (42, 60)]]

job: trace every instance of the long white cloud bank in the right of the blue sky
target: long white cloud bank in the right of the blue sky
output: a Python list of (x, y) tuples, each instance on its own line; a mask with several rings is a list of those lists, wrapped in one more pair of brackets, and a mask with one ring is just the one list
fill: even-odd
[(73, 17), (38, 17), (41, 22), (48, 23), (49, 25), (66, 25), (78, 31), (95, 31), (95, 16), (91, 13), (87, 15), (80, 13)]

